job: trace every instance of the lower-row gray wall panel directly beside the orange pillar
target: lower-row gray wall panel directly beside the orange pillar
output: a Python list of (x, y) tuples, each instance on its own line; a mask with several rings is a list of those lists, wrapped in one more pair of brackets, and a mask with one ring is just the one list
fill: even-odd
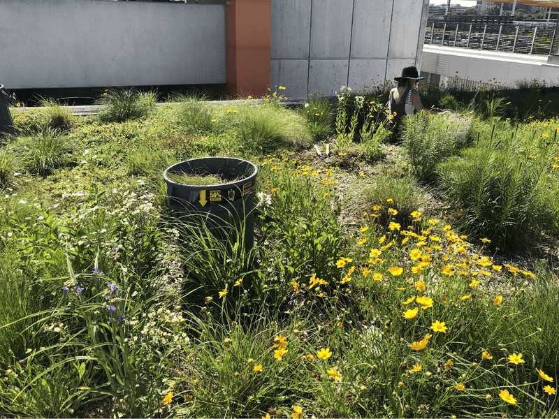
[(287, 98), (305, 98), (308, 71), (309, 61), (306, 59), (273, 59), (270, 61), (270, 89), (274, 91), (276, 86), (283, 86), (286, 89), (281, 94)]

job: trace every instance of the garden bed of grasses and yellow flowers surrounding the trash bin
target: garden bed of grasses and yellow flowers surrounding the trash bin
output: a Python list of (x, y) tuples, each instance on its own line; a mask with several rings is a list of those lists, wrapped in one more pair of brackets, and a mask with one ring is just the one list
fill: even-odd
[[(435, 92), (467, 135), (440, 152), (460, 130), (422, 119), (400, 153), (386, 88), (64, 131), (33, 111), (64, 147), (0, 154), (0, 418), (556, 418), (556, 265), (521, 258), (556, 249), (556, 117)], [(164, 170), (201, 156), (258, 166), (254, 247), (170, 216)]]

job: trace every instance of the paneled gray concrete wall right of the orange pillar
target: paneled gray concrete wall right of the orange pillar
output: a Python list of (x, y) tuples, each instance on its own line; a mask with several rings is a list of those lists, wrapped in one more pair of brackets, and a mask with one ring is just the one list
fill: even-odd
[(393, 80), (421, 59), (428, 4), (273, 0), (270, 88), (282, 85), (289, 98), (304, 98)]

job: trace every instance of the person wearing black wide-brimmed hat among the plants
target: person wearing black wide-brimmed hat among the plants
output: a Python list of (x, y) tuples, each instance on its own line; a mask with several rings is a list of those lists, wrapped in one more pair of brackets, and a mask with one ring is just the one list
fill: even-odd
[(400, 122), (404, 115), (414, 115), (415, 112), (425, 110), (430, 114), (437, 114), (432, 110), (423, 107), (421, 98), (419, 98), (419, 91), (414, 87), (418, 80), (423, 80), (424, 77), (419, 77), (417, 68), (414, 66), (405, 67), (402, 70), (400, 77), (395, 77), (394, 80), (398, 82), (398, 87), (390, 91), (389, 98), (389, 117), (393, 122), (394, 132), (400, 128)]

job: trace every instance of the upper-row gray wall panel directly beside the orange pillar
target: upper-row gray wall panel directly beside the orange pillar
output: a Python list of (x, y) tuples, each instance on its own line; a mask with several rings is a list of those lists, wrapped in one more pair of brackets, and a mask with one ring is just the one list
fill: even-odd
[(311, 0), (272, 1), (270, 57), (308, 58)]

